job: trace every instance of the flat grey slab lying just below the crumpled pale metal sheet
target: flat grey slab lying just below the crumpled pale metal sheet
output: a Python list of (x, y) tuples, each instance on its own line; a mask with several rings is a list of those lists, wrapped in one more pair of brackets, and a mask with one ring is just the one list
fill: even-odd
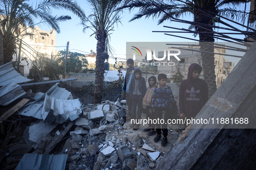
[(29, 126), (28, 134), (24, 132), (23, 139), (29, 143), (29, 141), (38, 143), (40, 140), (48, 135), (57, 126), (54, 124), (45, 124), (43, 121)]

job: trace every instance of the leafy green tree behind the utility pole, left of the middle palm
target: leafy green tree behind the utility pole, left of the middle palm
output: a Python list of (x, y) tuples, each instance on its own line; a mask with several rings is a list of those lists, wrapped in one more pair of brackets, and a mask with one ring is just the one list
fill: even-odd
[[(59, 59), (58, 62), (60, 64), (60, 70), (63, 70), (63, 60), (65, 58), (66, 52), (59, 51)], [(74, 72), (74, 73), (87, 73), (87, 65), (88, 62), (85, 59), (84, 54), (77, 52), (68, 52), (66, 72)]]

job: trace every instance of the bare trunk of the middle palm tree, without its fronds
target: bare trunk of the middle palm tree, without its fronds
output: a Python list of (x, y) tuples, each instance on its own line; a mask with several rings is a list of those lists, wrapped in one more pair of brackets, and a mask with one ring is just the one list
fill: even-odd
[(104, 71), (105, 71), (105, 59), (106, 59), (106, 33), (100, 32), (97, 34), (97, 56), (96, 56), (96, 68), (95, 68), (95, 87), (94, 87), (94, 104), (101, 103), (103, 86), (104, 86)]

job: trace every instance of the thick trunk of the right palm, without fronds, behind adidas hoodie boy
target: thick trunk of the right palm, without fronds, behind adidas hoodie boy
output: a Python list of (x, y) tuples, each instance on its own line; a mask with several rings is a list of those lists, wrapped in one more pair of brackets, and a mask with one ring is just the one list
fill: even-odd
[[(212, 5), (212, 7), (214, 7), (214, 5)], [(205, 7), (205, 9), (211, 9), (211, 8)], [(204, 10), (204, 9), (201, 9), (201, 10)], [(211, 11), (215, 13), (215, 9), (213, 9)], [(213, 25), (212, 20), (210, 18), (208, 18), (207, 16), (204, 16), (200, 11), (195, 11), (194, 20), (195, 20), (195, 22)], [(208, 27), (207, 29), (213, 30), (213, 28), (211, 28), (211, 27)], [(205, 32), (205, 31), (209, 32), (202, 28), (198, 28), (198, 31), (199, 32)], [(214, 35), (214, 34), (212, 34), (212, 35)], [(199, 44), (208, 45), (208, 46), (201, 46), (200, 47), (201, 51), (207, 51), (207, 52), (212, 52), (212, 53), (214, 52), (214, 38), (213, 37), (199, 34), (199, 40), (205, 41), (205, 42), (200, 42)], [(214, 54), (201, 52), (201, 59), (202, 59), (202, 68), (204, 71), (204, 80), (208, 85), (208, 91), (209, 91), (208, 98), (211, 98), (212, 94), (214, 94), (214, 92), (217, 90), (216, 80), (215, 80), (216, 75), (215, 75)]]

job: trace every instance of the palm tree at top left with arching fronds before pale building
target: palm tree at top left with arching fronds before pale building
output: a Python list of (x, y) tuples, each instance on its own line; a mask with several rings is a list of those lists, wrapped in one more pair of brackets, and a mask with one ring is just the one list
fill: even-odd
[[(71, 19), (70, 16), (52, 16), (52, 9), (71, 11), (80, 19), (85, 14), (80, 6), (72, 0), (41, 0), (32, 6), (29, 0), (0, 0), (0, 35), (3, 35), (4, 63), (13, 59), (17, 40), (26, 35), (33, 35), (31, 28), (37, 24), (47, 24), (60, 32), (58, 23)], [(40, 19), (39, 23), (35, 19)]]

